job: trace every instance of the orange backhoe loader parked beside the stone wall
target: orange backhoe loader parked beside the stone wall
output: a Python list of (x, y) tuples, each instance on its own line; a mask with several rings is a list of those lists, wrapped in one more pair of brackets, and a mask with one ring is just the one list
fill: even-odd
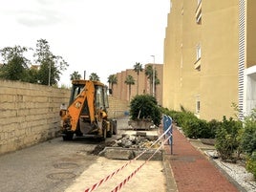
[(69, 107), (61, 106), (61, 134), (64, 140), (85, 135), (111, 138), (117, 123), (109, 119), (107, 87), (99, 81), (73, 80)]

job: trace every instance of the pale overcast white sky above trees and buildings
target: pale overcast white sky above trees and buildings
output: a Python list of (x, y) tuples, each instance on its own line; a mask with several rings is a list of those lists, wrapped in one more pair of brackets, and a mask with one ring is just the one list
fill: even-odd
[[(50, 51), (69, 67), (59, 85), (70, 86), (77, 71), (109, 75), (133, 69), (136, 62), (163, 63), (170, 0), (0, 0), (0, 49), (35, 49), (46, 39)], [(1, 61), (0, 61), (1, 62)]]

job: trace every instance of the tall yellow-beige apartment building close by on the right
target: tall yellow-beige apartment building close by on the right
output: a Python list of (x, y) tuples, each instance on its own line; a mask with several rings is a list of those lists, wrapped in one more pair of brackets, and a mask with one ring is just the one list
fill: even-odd
[(172, 0), (164, 39), (163, 107), (203, 119), (256, 105), (256, 1)]

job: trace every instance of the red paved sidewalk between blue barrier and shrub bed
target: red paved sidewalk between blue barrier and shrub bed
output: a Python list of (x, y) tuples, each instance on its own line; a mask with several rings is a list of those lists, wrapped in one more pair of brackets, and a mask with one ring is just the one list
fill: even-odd
[(240, 191), (176, 127), (173, 139), (173, 155), (170, 155), (170, 146), (165, 145), (165, 159), (171, 166), (179, 192)]

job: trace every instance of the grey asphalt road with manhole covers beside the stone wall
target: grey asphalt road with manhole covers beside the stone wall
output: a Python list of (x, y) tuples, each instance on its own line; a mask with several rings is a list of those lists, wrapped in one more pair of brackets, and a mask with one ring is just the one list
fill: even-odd
[[(119, 119), (117, 128), (128, 126), (127, 120)], [(98, 157), (88, 153), (99, 143), (90, 138), (73, 141), (56, 138), (1, 155), (0, 191), (62, 192), (95, 163)]]

